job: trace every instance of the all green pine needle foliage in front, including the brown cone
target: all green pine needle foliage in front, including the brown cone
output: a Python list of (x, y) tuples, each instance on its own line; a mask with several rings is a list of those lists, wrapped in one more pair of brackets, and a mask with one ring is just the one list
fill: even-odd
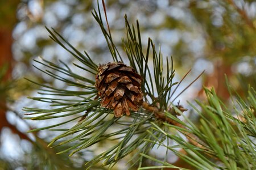
[[(104, 1), (102, 2), (104, 5)], [(105, 5), (104, 12), (106, 16)], [(47, 28), (51, 39), (80, 62), (80, 65), (77, 63), (74, 65), (96, 79), (89, 79), (74, 73), (63, 62), (56, 64), (43, 58), (41, 61), (35, 60), (47, 68), (46, 70), (38, 68), (43, 73), (61, 80), (68, 86), (76, 87), (77, 90), (55, 88), (30, 80), (42, 87), (39, 94), (47, 95), (30, 98), (50, 103), (51, 107), (47, 109), (26, 107), (24, 108), (27, 112), (26, 119), (46, 121), (65, 117), (65, 120), (59, 124), (33, 129), (30, 132), (46, 129), (59, 131), (59, 135), (56, 135), (48, 146), (69, 146), (58, 153), (68, 152), (69, 156), (76, 152), (89, 151), (92, 146), (99, 145), (101, 142), (106, 144), (110, 141), (117, 141), (111, 142), (111, 146), (105, 145), (104, 151), (94, 155), (93, 159), (86, 160), (87, 168), (96, 164), (108, 165), (108, 168), (112, 168), (120, 159), (129, 154), (131, 156), (127, 164), (130, 167), (174, 168), (174, 165), (167, 162), (168, 152), (172, 151), (197, 169), (255, 169), (256, 165), (253, 160), (255, 160), (256, 151), (253, 141), (255, 141), (256, 134), (256, 93), (252, 88), (248, 102), (243, 101), (237, 95), (241, 111), (235, 109), (234, 113), (237, 116), (241, 114), (245, 121), (236, 118), (233, 111), (225, 108), (225, 104), (218, 99), (214, 90), (205, 90), (209, 104), (197, 101), (201, 110), (191, 104), (201, 117), (201, 127), (197, 128), (184, 116), (183, 112), (186, 109), (172, 103), (201, 74), (184, 90), (176, 94), (177, 88), (180, 87), (180, 83), (190, 70), (180, 82), (174, 82), (175, 70), (172, 58), (171, 60), (166, 58), (167, 71), (165, 73), (162, 54), (160, 50), (156, 52), (155, 45), (150, 38), (147, 48), (143, 48), (138, 21), (135, 27), (129, 24), (125, 16), (127, 35), (126, 39), (123, 39), (123, 48), (130, 63), (124, 63), (123, 56), (119, 54), (114, 45), (107, 17), (108, 29), (105, 28), (99, 4), (98, 10), (94, 10), (92, 15), (101, 28), (113, 61), (101, 63), (102, 65), (95, 63), (88, 53), (79, 52), (54, 29)], [(149, 64), (151, 62), (152, 68)], [(60, 76), (56, 72), (65, 76)], [(229, 88), (231, 92), (231, 87)], [(214, 121), (209, 121), (204, 113), (207, 113)], [(183, 116), (185, 121), (177, 118), (179, 115)], [(76, 123), (73, 125), (70, 122)], [(69, 128), (61, 128), (63, 125)], [(164, 160), (158, 160), (149, 155), (149, 151), (154, 146), (166, 148)], [(177, 148), (183, 148), (186, 154), (181, 154)], [(145, 159), (162, 165), (143, 167)]]

